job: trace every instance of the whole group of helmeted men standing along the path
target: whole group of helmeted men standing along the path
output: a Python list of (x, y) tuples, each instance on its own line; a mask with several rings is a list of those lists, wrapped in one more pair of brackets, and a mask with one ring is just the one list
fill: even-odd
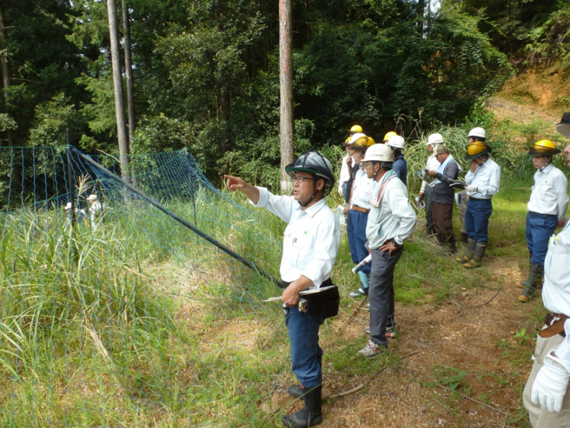
[[(354, 128), (353, 135), (346, 140), (348, 155), (343, 160), (338, 191), (346, 196), (347, 234), (353, 262), (359, 263), (371, 255), (371, 263), (359, 272), (361, 287), (351, 292), (353, 297), (368, 295), (370, 300), (370, 327), (366, 329), (370, 340), (358, 351), (359, 355), (370, 358), (388, 347), (388, 337), (394, 332), (394, 270), (403, 253), (404, 241), (415, 230), (416, 218), (406, 188), (403, 138), (387, 134), (385, 144), (376, 144), (359, 126)], [(570, 138), (570, 113), (564, 115), (558, 129)], [(426, 173), (434, 180), (423, 183), (420, 197), (427, 205), (428, 233), (435, 232), (442, 245), (449, 245), (450, 250), (455, 251), (454, 187), (465, 188), (462, 203), (466, 203), (467, 254), (456, 260), (472, 268), (481, 265), (487, 248), (491, 198), (499, 191), (501, 170), (489, 156), (491, 148), (485, 143), (482, 128), (474, 128), (468, 138), (466, 159), (471, 165), (465, 183), (460, 184), (457, 183), (460, 166), (442, 136), (429, 137), (427, 145), (432, 156), (427, 160)], [(544, 305), (552, 311), (539, 335), (532, 374), (524, 389), (524, 405), (529, 409), (535, 428), (570, 426), (570, 394), (565, 396), (570, 379), (570, 339), (567, 337), (570, 324), (566, 325), (569, 317), (564, 315), (570, 314), (568, 225), (546, 244), (548, 253), (544, 251), (544, 236), (554, 231), (556, 225), (564, 224), (568, 203), (567, 195), (566, 205), (564, 201), (553, 200), (554, 193), (561, 193), (563, 184), (566, 188), (564, 175), (562, 180), (556, 173), (559, 170), (551, 165), (551, 156), (556, 153), (559, 151), (551, 141), (539, 141), (529, 152), (537, 174), (527, 217), (532, 265), (522, 296), (532, 297), (539, 282), (537, 275), (542, 272), (533, 266), (542, 263)], [(565, 153), (570, 165), (570, 144)], [(289, 387), (288, 392), (291, 397), (301, 397), (304, 408), (283, 415), (281, 420), (286, 427), (301, 428), (322, 422), (323, 350), (318, 345), (318, 330), (326, 318), (338, 313), (340, 298), (331, 273), (341, 241), (341, 228), (325, 199), (335, 187), (330, 161), (321, 153), (310, 151), (287, 165), (286, 172), (293, 181), (291, 196), (273, 195), (242, 178), (225, 177), (230, 190), (242, 191), (253, 205), (266, 208), (288, 223), (280, 268), (284, 285), (281, 300), (289, 330), (291, 366), (300, 382)], [(400, 178), (402, 173), (403, 179)], [(429, 223), (430, 218), (432, 223)], [(546, 253), (546, 262), (540, 260), (541, 253)], [(320, 292), (305, 294), (307, 290)]]

